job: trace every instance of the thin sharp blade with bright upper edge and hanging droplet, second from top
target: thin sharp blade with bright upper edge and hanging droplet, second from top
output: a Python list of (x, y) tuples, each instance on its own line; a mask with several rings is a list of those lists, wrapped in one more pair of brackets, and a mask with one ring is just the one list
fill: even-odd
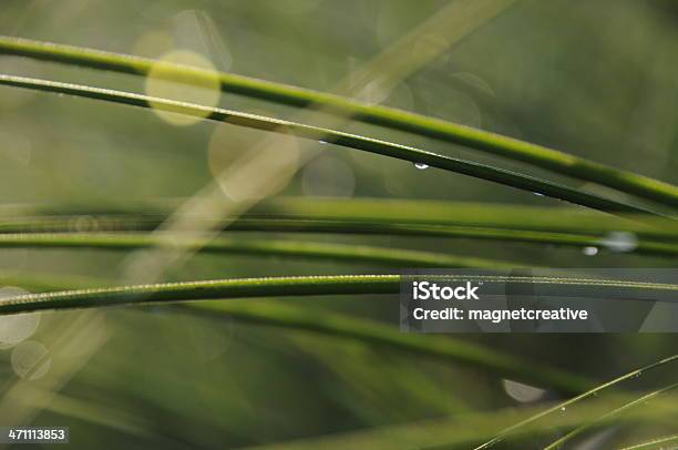
[(548, 197), (567, 201), (577, 205), (612, 214), (641, 214), (659, 215), (656, 212), (645, 209), (640, 206), (629, 205), (623, 202), (605, 198), (583, 191), (540, 180), (530, 175), (497, 168), (491, 165), (459, 160), (450, 156), (439, 155), (421, 149), (379, 141), (357, 134), (305, 125), (300, 123), (284, 121), (279, 119), (265, 117), (261, 115), (246, 114), (220, 108), (207, 108), (167, 99), (150, 98), (142, 94), (99, 89), (79, 84), (61, 83), (56, 81), (37, 80), (23, 76), (0, 75), (0, 85), (31, 89), (44, 92), (63, 93), (86, 99), (101, 100), (112, 103), (127, 104), (146, 109), (157, 109), (166, 112), (197, 116), (201, 119), (226, 122), (238, 126), (245, 126), (261, 131), (294, 135), (297, 137), (323, 141), (343, 147), (360, 150), (369, 153), (381, 154), (398, 160), (409, 161), (414, 164), (425, 164), (463, 175), (491, 181), (505, 186), (522, 191), (543, 194)]

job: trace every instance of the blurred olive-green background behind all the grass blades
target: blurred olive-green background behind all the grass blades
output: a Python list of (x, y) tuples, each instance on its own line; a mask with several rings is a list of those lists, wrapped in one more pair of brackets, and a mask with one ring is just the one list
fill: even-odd
[[(328, 91), (446, 4), (2, 0), (0, 33), (150, 58), (186, 50), (222, 71)], [(678, 7), (668, 0), (518, 1), (400, 83), (383, 103), (677, 182), (677, 23)], [(141, 78), (14, 57), (0, 57), (0, 73), (144, 92)], [(291, 108), (230, 94), (223, 94), (219, 104), (276, 117), (295, 115)], [(516, 163), (401, 132), (355, 123), (348, 130), (525, 171)], [(0, 88), (1, 203), (97, 205), (187, 197), (260, 135), (209, 122), (175, 126), (147, 110)], [(280, 195), (558, 203), (332, 145), (322, 146)], [(314, 239), (524, 265), (675, 266), (667, 258), (586, 256), (578, 249), (515, 243)], [(126, 257), (94, 250), (2, 249), (0, 269), (117, 283)], [(198, 255), (167, 273), (166, 279), (388, 272), (341, 262)], [(390, 324), (398, 320), (393, 298), (289, 301)], [(492, 411), (555, 396), (546, 390), (536, 399), (526, 398), (493, 374), (358, 341), (196, 317), (173, 308), (109, 309), (95, 320), (79, 315), (44, 313), (29, 340), (0, 350), (0, 425), (21, 417), (21, 425), (68, 426), (71, 442), (82, 448), (236, 448)], [(79, 344), (69, 347), (54, 340), (56, 333)], [(669, 355), (678, 342), (672, 335), (462, 338), (597, 380)], [(12, 361), (19, 346), (28, 352), (25, 358), (45, 354), (44, 370), (22, 377), (21, 361)], [(659, 378), (675, 380), (676, 371), (667, 369)], [(657, 379), (641, 379), (628, 388), (656, 385)], [(45, 392), (58, 393), (41, 400)]]

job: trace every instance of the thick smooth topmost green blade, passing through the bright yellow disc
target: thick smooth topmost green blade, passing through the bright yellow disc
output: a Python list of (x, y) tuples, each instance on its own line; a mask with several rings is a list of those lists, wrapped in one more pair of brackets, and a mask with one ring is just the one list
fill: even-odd
[[(148, 74), (152, 68), (158, 64), (156, 60), (140, 57), (12, 37), (0, 37), (0, 52), (142, 75)], [(205, 79), (213, 80), (215, 76), (212, 71), (181, 64), (167, 64), (167, 70), (164, 72), (172, 81), (194, 85), (204, 85)], [(613, 187), (667, 206), (678, 206), (677, 186), (542, 145), (402, 110), (370, 105), (335, 94), (230, 73), (218, 73), (217, 75), (224, 92), (299, 108), (318, 106), (323, 111), (341, 116), (350, 115), (367, 123), (470, 146), (575, 178)]]

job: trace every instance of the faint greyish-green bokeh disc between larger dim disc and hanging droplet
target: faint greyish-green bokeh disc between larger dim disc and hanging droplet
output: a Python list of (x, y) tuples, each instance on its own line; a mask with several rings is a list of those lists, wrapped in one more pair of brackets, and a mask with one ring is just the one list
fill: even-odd
[(304, 167), (304, 195), (350, 197), (356, 188), (353, 170), (338, 157), (322, 155)]

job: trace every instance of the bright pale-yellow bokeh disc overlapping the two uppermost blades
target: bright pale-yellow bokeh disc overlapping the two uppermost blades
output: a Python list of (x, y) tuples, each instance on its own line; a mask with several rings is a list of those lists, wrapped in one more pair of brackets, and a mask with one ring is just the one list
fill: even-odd
[[(176, 81), (181, 80), (183, 75), (177, 73), (176, 64), (204, 69), (206, 72), (189, 75), (191, 84), (178, 83)], [(172, 51), (163, 55), (146, 76), (147, 95), (203, 106), (213, 108), (218, 104), (219, 89), (219, 76), (212, 62), (198, 53), (185, 50)], [(164, 111), (160, 104), (153, 101), (151, 106), (161, 119), (173, 125), (191, 125), (201, 121), (201, 116)], [(209, 112), (205, 111), (203, 116), (207, 115), (209, 115)]]

